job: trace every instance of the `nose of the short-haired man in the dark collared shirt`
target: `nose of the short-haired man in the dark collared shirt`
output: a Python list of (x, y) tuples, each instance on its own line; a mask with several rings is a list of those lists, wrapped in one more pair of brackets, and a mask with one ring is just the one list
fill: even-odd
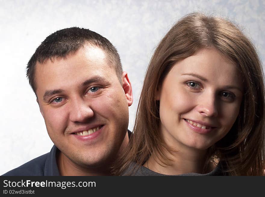
[(85, 122), (87, 119), (94, 116), (94, 111), (85, 100), (79, 98), (71, 102), (70, 120), (72, 122)]

